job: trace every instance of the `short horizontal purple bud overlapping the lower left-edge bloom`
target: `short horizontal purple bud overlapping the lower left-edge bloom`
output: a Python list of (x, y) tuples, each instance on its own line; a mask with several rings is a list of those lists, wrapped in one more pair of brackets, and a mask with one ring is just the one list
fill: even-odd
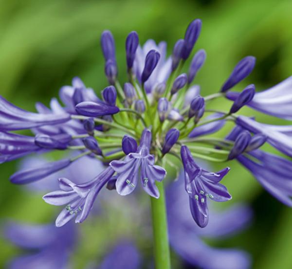
[(35, 144), (44, 149), (58, 149), (64, 150), (67, 148), (69, 142), (72, 140), (71, 135), (60, 134), (60, 135), (43, 135), (37, 134), (35, 136)]

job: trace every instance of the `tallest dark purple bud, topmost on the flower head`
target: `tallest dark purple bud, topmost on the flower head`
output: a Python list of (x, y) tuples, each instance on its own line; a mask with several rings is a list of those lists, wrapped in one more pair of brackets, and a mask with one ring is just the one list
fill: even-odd
[(201, 32), (202, 22), (201, 19), (193, 20), (187, 27), (184, 35), (184, 43), (182, 49), (182, 58), (187, 59), (192, 52), (192, 49), (199, 38)]

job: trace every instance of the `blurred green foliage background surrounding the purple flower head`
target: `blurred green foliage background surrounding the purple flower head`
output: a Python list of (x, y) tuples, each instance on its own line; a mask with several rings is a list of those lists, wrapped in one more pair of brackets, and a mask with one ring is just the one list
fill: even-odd
[[(260, 91), (292, 75), (291, 14), (291, 0), (0, 0), (0, 95), (34, 111), (36, 101), (48, 105), (50, 98), (57, 96), (62, 85), (70, 85), (74, 76), (99, 93), (107, 86), (99, 42), (103, 30), (109, 29), (115, 37), (119, 78), (123, 82), (124, 43), (130, 31), (138, 32), (141, 43), (148, 38), (167, 41), (170, 54), (175, 41), (183, 38), (186, 26), (195, 18), (203, 21), (195, 49), (204, 48), (207, 52), (207, 61), (196, 78), (201, 94), (218, 91), (239, 59), (247, 55), (257, 58), (256, 68), (237, 89), (254, 83)], [(230, 107), (225, 100), (213, 104), (215, 109)], [(262, 122), (289, 124), (247, 108), (241, 112), (256, 115)], [(229, 130), (227, 126), (221, 135)], [(248, 251), (256, 269), (292, 268), (291, 209), (265, 192), (236, 162), (229, 165), (232, 170), (224, 184), (233, 195), (230, 203), (249, 203), (254, 219), (246, 231), (210, 244)], [(17, 166), (17, 161), (0, 166), (1, 221), (53, 221), (59, 208), (45, 204), (39, 193), (9, 182)], [(222, 165), (214, 169), (219, 167)], [(125, 203), (129, 203), (127, 198)], [(144, 203), (148, 206), (147, 201)], [(118, 212), (116, 207), (95, 223), (84, 224), (73, 268), (98, 261), (105, 254), (104, 246), (124, 231), (132, 235), (136, 231), (138, 242), (143, 229), (148, 231), (139, 220), (133, 224), (127, 214)], [(137, 227), (137, 223), (142, 226)], [(142, 251), (150, 257), (151, 235), (148, 245), (145, 241), (143, 244)], [(21, 250), (1, 238), (0, 253), (3, 268)], [(173, 259), (179, 264), (175, 254)]]

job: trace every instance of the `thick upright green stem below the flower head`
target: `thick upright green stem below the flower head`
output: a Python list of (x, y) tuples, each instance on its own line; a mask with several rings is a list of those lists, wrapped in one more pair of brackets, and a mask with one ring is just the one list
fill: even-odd
[(155, 269), (170, 269), (170, 252), (163, 183), (157, 182), (156, 186), (160, 192), (160, 197), (158, 199), (151, 197)]

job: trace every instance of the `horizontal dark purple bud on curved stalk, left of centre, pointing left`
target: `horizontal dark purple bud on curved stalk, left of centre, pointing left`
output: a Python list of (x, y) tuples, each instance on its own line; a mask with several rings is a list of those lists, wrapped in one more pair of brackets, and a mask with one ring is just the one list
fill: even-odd
[(120, 110), (116, 106), (110, 106), (105, 102), (81, 102), (75, 106), (75, 110), (78, 114), (88, 116), (88, 117), (97, 117), (103, 115), (112, 115), (118, 113)]

